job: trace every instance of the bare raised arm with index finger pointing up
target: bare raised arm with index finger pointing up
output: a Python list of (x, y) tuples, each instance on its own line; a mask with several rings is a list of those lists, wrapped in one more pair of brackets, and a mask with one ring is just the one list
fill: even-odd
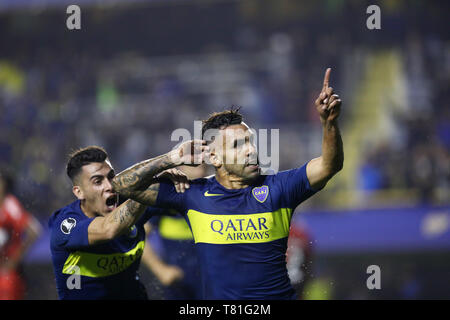
[(329, 87), (331, 69), (325, 72), (322, 91), (315, 101), (323, 127), (322, 155), (306, 166), (306, 175), (314, 190), (323, 188), (344, 165), (344, 148), (338, 126), (341, 99)]

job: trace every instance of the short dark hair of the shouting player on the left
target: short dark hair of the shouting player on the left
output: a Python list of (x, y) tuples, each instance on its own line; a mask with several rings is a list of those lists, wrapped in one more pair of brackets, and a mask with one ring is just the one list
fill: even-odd
[(92, 162), (103, 162), (108, 158), (105, 149), (98, 146), (89, 146), (75, 150), (69, 154), (69, 161), (67, 162), (66, 172), (70, 180), (81, 172), (81, 168)]

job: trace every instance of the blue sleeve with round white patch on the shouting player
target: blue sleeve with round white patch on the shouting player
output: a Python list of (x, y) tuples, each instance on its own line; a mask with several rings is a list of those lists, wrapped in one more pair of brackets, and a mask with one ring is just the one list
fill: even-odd
[(88, 228), (94, 219), (80, 220), (76, 215), (61, 215), (52, 224), (51, 245), (69, 250), (89, 246)]

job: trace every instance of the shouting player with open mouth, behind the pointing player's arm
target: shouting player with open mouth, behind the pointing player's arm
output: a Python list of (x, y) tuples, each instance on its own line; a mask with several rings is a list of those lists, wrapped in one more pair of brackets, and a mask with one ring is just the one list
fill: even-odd
[[(191, 144), (186, 142), (181, 147), (190, 148)], [(200, 154), (207, 149), (200, 148)], [(173, 167), (170, 155), (147, 163), (152, 179)], [(193, 159), (182, 157), (178, 161)], [(183, 181), (187, 180), (184, 175), (173, 171), (168, 174), (178, 190), (184, 188)], [(131, 199), (119, 203), (119, 195), (111, 184), (114, 169), (106, 151), (100, 147), (91, 146), (72, 153), (67, 175), (77, 200), (49, 219), (59, 298), (146, 299), (137, 274), (145, 244), (143, 225), (150, 217), (146, 206)]]

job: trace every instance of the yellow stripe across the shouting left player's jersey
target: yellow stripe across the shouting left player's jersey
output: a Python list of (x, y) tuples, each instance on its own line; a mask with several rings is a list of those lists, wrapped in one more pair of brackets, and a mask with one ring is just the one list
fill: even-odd
[(140, 241), (133, 249), (123, 253), (97, 254), (72, 252), (64, 263), (62, 273), (80, 274), (86, 277), (107, 277), (120, 273), (140, 259), (145, 241)]

